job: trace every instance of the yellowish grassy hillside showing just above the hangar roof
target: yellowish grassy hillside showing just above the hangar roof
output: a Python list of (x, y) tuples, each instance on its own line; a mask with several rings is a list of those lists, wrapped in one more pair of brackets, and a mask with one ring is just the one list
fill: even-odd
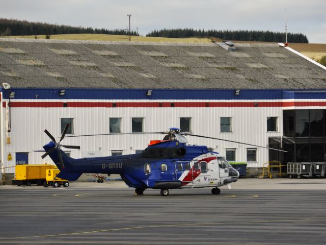
[[(35, 38), (35, 36), (9, 36), (12, 38)], [(45, 39), (45, 35), (36, 36), (39, 39)], [(65, 39), (65, 40), (98, 40), (98, 41), (129, 41), (127, 35), (107, 35), (107, 34), (62, 34), (51, 35), (51, 39)], [(143, 37), (143, 36), (131, 36), (131, 41), (138, 42), (186, 42), (186, 43), (207, 43), (210, 42), (210, 38), (167, 38), (167, 37)], [(238, 43), (257, 43), (246, 41), (234, 41)], [(294, 50), (312, 58), (314, 60), (320, 59), (322, 56), (326, 56), (326, 44), (317, 43), (289, 43), (289, 46)]]

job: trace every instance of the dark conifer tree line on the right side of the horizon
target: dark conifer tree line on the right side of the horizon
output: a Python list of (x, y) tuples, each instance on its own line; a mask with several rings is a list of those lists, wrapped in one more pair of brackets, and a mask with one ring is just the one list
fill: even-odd
[[(235, 41), (262, 41), (262, 42), (285, 42), (285, 32), (271, 31), (248, 31), (248, 30), (194, 30), (192, 28), (185, 29), (162, 29), (154, 30), (148, 33), (148, 37), (211, 37), (222, 40)], [(288, 33), (288, 42), (308, 43), (308, 38), (302, 33)]]

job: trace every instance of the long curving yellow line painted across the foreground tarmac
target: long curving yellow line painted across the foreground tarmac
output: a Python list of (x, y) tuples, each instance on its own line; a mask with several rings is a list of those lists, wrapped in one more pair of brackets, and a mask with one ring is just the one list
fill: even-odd
[(135, 227), (126, 227), (126, 228), (116, 228), (116, 229), (106, 229), (106, 230), (96, 230), (96, 231), (84, 231), (84, 232), (74, 232), (74, 233), (62, 233), (62, 234), (53, 234), (53, 235), (2, 237), (2, 238), (0, 238), (0, 240), (39, 238), (39, 237), (54, 237), (54, 236), (71, 236), (71, 235), (91, 234), (91, 233), (110, 232), (110, 231), (125, 231), (125, 230), (135, 230), (135, 229), (145, 229), (145, 228), (209, 226), (209, 225), (233, 225), (233, 224), (262, 224), (262, 223), (278, 223), (278, 222), (304, 222), (304, 221), (316, 221), (316, 220), (325, 221), (326, 218), (276, 219), (276, 220), (237, 221), (237, 222), (213, 222), (213, 223), (189, 223), (189, 224), (176, 224), (176, 225), (135, 226)]

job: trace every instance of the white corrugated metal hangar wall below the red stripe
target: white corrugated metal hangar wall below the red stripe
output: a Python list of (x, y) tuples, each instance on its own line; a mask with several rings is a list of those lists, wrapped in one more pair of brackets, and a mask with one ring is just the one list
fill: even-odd
[[(79, 102), (79, 100), (74, 100)], [(83, 100), (85, 102), (85, 100)], [(80, 100), (82, 102), (82, 100)], [(166, 101), (168, 102), (168, 101)], [(191, 102), (191, 101), (189, 101)], [(258, 101), (259, 102), (259, 101)], [(4, 112), (6, 109), (3, 109)], [(5, 113), (4, 113), (5, 114)], [(267, 132), (267, 117), (278, 117), (279, 132)], [(269, 136), (281, 136), (281, 107), (242, 107), (242, 108), (11, 108), (11, 144), (5, 144), (5, 166), (15, 165), (16, 152), (28, 152), (29, 163), (52, 163), (49, 157), (41, 159), (41, 150), (50, 141), (44, 133), (47, 129), (53, 136), (60, 136), (60, 118), (74, 118), (74, 134), (100, 134), (109, 132), (109, 118), (121, 117), (122, 132), (131, 132), (131, 118), (144, 117), (144, 131), (164, 131), (170, 127), (179, 127), (180, 117), (191, 117), (192, 133), (229, 140), (248, 142), (266, 146)], [(232, 133), (221, 133), (220, 117), (232, 117)], [(4, 125), (6, 117), (3, 116)], [(6, 128), (4, 128), (6, 131)], [(6, 137), (6, 132), (4, 132)], [(80, 150), (71, 150), (71, 156), (80, 158), (87, 151), (99, 152), (101, 156), (111, 155), (112, 150), (122, 150), (123, 154), (133, 154), (135, 150), (145, 149), (151, 139), (162, 139), (164, 135), (107, 135), (93, 137), (65, 138), (63, 143), (80, 145)], [(236, 161), (247, 162), (248, 145), (224, 142), (212, 139), (188, 136), (191, 144), (204, 144), (225, 155), (226, 148), (236, 149)], [(59, 138), (58, 138), (59, 139)], [(6, 142), (6, 141), (5, 141)], [(11, 153), (12, 161), (7, 161)], [(268, 161), (268, 150), (257, 150), (257, 163), (249, 167), (261, 167)], [(6, 173), (13, 173), (10, 168)]]

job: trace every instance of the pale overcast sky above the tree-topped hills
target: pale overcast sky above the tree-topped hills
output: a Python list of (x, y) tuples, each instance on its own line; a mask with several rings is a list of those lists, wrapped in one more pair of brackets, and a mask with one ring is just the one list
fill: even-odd
[[(287, 11), (285, 11), (287, 9)], [(0, 0), (0, 17), (71, 26), (264, 30), (303, 33), (326, 43), (325, 0)]]

